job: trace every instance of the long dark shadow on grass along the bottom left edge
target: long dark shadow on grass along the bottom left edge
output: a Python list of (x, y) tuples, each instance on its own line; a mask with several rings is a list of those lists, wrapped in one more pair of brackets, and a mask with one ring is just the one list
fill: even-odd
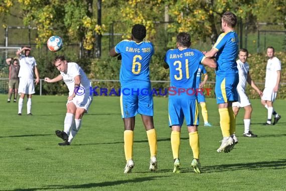
[(83, 188), (94, 188), (104, 187), (104, 186), (113, 186), (120, 184), (129, 184), (129, 183), (138, 183), (144, 181), (152, 181), (158, 178), (169, 177), (169, 176), (151, 176), (151, 177), (139, 177), (132, 179), (116, 180), (116, 181), (104, 181), (98, 183), (86, 183), (86, 184), (76, 184), (76, 185), (49, 185), (47, 187), (37, 187), (37, 188), (27, 188), (27, 189), (13, 189), (14, 191), (33, 191), (41, 189), (83, 189)]

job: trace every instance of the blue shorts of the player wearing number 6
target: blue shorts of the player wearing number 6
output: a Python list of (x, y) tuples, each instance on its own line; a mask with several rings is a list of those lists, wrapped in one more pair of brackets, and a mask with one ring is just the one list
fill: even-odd
[(120, 108), (122, 118), (137, 114), (153, 116), (151, 82), (140, 81), (121, 86)]

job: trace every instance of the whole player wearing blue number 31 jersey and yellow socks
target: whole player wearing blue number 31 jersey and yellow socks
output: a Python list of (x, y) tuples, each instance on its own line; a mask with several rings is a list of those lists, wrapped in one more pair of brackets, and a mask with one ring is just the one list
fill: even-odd
[(177, 35), (177, 49), (170, 49), (165, 56), (164, 68), (170, 68), (169, 93), (169, 127), (171, 132), (171, 146), (174, 159), (174, 173), (180, 172), (180, 137), (181, 127), (186, 118), (189, 132), (190, 146), (193, 151), (192, 167), (196, 173), (201, 173), (199, 161), (199, 109), (196, 96), (196, 77), (199, 64), (215, 68), (214, 59), (206, 58), (202, 52), (191, 49), (191, 35), (181, 32)]

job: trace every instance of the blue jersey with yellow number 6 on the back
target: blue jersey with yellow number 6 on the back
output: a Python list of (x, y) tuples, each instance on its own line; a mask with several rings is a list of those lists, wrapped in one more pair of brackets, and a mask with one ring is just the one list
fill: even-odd
[(115, 52), (122, 56), (119, 74), (121, 86), (134, 80), (150, 81), (149, 64), (154, 54), (151, 42), (123, 40), (115, 46)]

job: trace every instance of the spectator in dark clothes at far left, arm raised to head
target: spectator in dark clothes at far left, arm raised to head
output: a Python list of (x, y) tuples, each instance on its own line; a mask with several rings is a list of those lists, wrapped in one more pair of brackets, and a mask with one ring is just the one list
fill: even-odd
[(11, 97), (14, 91), (14, 103), (17, 102), (18, 87), (19, 87), (19, 60), (17, 58), (7, 58), (6, 63), (9, 65), (9, 92), (8, 92), (8, 103), (11, 102)]

